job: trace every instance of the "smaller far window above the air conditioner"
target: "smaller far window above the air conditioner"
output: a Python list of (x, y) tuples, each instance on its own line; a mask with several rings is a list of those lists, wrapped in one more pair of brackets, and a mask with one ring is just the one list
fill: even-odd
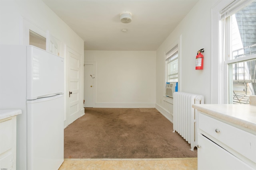
[(178, 82), (178, 45), (166, 53), (166, 82)]

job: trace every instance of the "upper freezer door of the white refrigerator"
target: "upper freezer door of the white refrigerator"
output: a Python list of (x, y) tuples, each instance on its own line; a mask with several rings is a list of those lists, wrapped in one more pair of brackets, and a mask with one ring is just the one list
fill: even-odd
[(64, 59), (27, 46), (27, 100), (64, 93)]

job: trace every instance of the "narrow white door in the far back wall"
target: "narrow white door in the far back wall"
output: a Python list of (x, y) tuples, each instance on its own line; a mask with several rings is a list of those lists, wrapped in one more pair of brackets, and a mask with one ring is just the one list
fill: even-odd
[(84, 64), (84, 107), (93, 107), (94, 69), (93, 64)]

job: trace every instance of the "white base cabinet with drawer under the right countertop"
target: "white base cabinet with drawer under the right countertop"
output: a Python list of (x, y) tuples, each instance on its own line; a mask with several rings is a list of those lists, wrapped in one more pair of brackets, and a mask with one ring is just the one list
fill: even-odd
[(256, 135), (198, 111), (198, 170), (256, 169)]

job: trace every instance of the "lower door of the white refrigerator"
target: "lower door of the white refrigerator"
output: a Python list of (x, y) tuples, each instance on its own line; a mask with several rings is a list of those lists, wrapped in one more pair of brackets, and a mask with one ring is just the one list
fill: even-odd
[(64, 161), (64, 95), (27, 101), (28, 170), (58, 170)]

